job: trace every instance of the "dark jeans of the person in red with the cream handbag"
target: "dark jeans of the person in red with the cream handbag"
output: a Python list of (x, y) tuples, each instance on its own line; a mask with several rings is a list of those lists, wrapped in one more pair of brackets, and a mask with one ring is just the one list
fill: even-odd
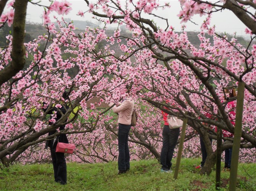
[(172, 167), (172, 157), (174, 148), (177, 144), (180, 135), (180, 128), (170, 129), (168, 125), (164, 125), (162, 136), (163, 136), (163, 147), (160, 154), (160, 163), (163, 170), (170, 170)]

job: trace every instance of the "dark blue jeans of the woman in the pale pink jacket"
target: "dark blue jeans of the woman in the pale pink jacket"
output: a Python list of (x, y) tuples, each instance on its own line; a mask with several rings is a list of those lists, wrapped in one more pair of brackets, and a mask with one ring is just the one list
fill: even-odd
[(128, 135), (131, 125), (119, 123), (118, 128), (118, 170), (130, 169), (130, 153), (128, 146)]

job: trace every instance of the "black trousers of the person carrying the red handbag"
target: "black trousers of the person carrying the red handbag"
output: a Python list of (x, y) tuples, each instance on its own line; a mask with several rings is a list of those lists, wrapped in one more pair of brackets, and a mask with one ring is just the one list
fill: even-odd
[[(57, 145), (57, 143), (56, 143)], [(66, 184), (66, 160), (64, 153), (56, 153), (56, 146), (50, 149), (54, 171), (54, 180), (62, 185)]]

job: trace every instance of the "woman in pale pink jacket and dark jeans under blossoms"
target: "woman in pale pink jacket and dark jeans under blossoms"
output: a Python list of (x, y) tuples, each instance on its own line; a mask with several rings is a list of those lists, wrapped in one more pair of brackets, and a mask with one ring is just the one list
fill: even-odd
[[(112, 106), (110, 103), (109, 106)], [(130, 169), (130, 152), (128, 146), (128, 135), (131, 129), (131, 115), (133, 113), (134, 100), (130, 96), (123, 99), (118, 107), (113, 106), (112, 110), (118, 115), (118, 174), (126, 173)]]

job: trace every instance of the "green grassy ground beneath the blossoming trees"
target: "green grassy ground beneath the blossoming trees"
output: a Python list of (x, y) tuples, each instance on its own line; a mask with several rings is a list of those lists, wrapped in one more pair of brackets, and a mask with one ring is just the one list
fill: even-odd
[[(51, 164), (19, 165), (0, 170), (0, 190), (215, 190), (215, 170), (210, 176), (195, 169), (200, 159), (182, 159), (178, 179), (173, 173), (160, 173), (156, 160), (131, 161), (131, 169), (117, 175), (117, 162), (107, 164), (68, 163), (68, 183), (54, 182)], [(173, 170), (175, 159), (173, 159)], [(220, 190), (228, 189), (229, 172), (222, 172)], [(256, 190), (256, 164), (239, 164), (237, 190)]]

